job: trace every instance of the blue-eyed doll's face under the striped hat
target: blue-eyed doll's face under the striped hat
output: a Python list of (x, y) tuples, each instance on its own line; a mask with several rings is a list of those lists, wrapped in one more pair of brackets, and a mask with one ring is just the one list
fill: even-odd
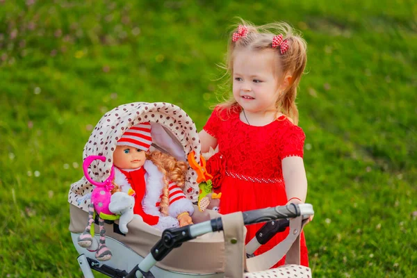
[(145, 164), (145, 151), (130, 146), (117, 146), (113, 152), (113, 163), (120, 169), (138, 169)]

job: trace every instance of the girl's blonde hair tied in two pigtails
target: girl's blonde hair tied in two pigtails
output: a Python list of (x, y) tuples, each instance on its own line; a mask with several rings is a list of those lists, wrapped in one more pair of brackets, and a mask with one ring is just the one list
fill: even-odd
[[(234, 33), (238, 32), (238, 26), (231, 31), (229, 36), (229, 47), (227, 49), (226, 65), (224, 70), (227, 76), (228, 89), (230, 90), (231, 80), (233, 77), (233, 63), (234, 63), (234, 51), (239, 49), (250, 49), (253, 51), (262, 51), (272, 48), (272, 38), (275, 35), (282, 34), (284, 40), (288, 42), (288, 50), (285, 54), (280, 54), (279, 47), (275, 50), (278, 57), (277, 68), (279, 71), (277, 76), (279, 81), (282, 81), (282, 77), (291, 75), (291, 81), (288, 87), (282, 92), (276, 102), (277, 112), (281, 112), (286, 117), (290, 118), (294, 124), (298, 124), (298, 110), (295, 104), (295, 98), (297, 97), (297, 86), (300, 83), (302, 73), (306, 67), (306, 42), (298, 35), (295, 30), (285, 22), (275, 22), (271, 24), (265, 24), (262, 26), (255, 26), (250, 22), (245, 22), (240, 19), (240, 24), (247, 27), (247, 33), (245, 36), (240, 37), (236, 42), (232, 41)], [(229, 91), (228, 90), (228, 91)], [(237, 101), (231, 95), (222, 104), (220, 104), (220, 111), (227, 109), (228, 113), (231, 108), (238, 105)]]

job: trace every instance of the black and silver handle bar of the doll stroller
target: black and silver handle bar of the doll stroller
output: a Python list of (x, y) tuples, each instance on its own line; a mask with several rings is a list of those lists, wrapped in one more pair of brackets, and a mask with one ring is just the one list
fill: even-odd
[[(245, 225), (268, 222), (272, 220), (296, 218), (300, 215), (313, 215), (313, 206), (311, 204), (287, 204), (286, 206), (275, 206), (272, 208), (261, 208), (253, 211), (243, 212), (243, 222)], [(136, 265), (126, 276), (129, 277), (147, 277), (149, 270), (161, 261), (167, 254), (176, 247), (182, 245), (187, 240), (211, 233), (213, 231), (222, 231), (222, 218), (215, 218), (198, 224), (192, 224), (180, 228), (165, 229), (162, 237), (152, 247), (151, 253), (148, 254), (139, 265)]]

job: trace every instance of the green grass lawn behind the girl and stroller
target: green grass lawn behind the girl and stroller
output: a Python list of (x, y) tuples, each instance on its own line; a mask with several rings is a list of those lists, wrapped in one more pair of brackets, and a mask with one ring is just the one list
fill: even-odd
[(284, 20), (309, 44), (314, 276), (415, 276), (414, 1), (34, 2), (0, 1), (0, 277), (82, 276), (67, 192), (90, 129), (133, 101), (177, 104), (201, 129), (236, 16)]

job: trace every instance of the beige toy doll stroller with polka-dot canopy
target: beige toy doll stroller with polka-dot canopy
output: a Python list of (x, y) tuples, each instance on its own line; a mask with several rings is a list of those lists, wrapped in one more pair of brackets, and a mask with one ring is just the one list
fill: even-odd
[[(83, 150), (83, 159), (94, 155), (104, 156), (105, 159), (92, 161), (87, 170), (88, 176), (95, 181), (106, 181), (111, 174), (111, 159), (118, 138), (125, 129), (145, 121), (152, 124), (152, 149), (171, 154), (179, 161), (186, 161), (188, 154), (194, 152), (195, 161), (200, 163), (197, 129), (181, 108), (167, 103), (137, 102), (118, 106), (106, 113), (93, 130)], [(127, 225), (127, 234), (120, 231), (119, 220), (106, 220), (106, 245), (113, 256), (101, 262), (95, 259), (100, 235), (93, 237), (90, 247), (93, 251), (77, 243), (79, 235), (85, 231), (90, 205), (90, 199), (85, 196), (92, 190), (92, 183), (83, 177), (72, 184), (68, 197), (71, 236), (80, 254), (77, 260), (85, 277), (94, 277), (92, 269), (109, 277), (243, 277), (244, 270), (245, 277), (261, 277), (257, 275), (284, 271), (286, 277), (290, 273), (297, 277), (311, 277), (311, 270), (299, 265), (302, 218), (303, 215), (313, 214), (309, 204), (290, 204), (230, 215), (207, 210), (211, 220), (166, 229), (163, 233), (137, 215)], [(188, 167), (186, 173), (184, 193), (188, 199), (197, 202), (199, 187), (197, 174), (192, 167)], [(195, 213), (198, 213), (198, 209), (195, 209)], [(292, 219), (288, 221), (289, 218)], [(245, 250), (244, 226), (268, 221), (263, 229), (268, 230), (269, 235), (259, 231), (258, 239), (254, 238)], [(291, 232), (286, 240), (264, 254), (246, 259), (245, 254), (253, 254), (264, 243), (263, 238), (271, 238), (273, 233), (288, 225)], [(291, 265), (269, 270), (285, 254), (286, 263)]]

